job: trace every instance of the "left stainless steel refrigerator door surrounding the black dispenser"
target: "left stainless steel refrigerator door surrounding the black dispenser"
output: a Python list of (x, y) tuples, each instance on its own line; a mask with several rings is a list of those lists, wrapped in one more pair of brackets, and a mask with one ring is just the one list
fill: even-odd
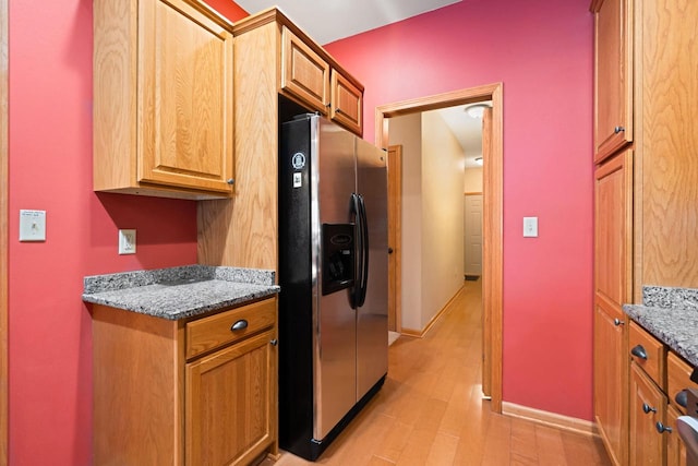
[[(353, 134), (314, 117), (318, 126), (317, 147), (318, 196), (313, 200), (321, 224), (351, 222), (349, 202), (356, 189)], [(322, 241), (321, 241), (322, 244)], [(321, 253), (322, 258), (323, 254)], [(318, 264), (321, 267), (328, 264)], [(323, 276), (322, 273), (318, 274)], [(322, 287), (321, 287), (322, 289)], [(313, 437), (324, 439), (357, 403), (356, 398), (356, 311), (349, 291), (341, 289), (322, 296), (316, 294), (317, 328), (315, 331), (315, 423)]]

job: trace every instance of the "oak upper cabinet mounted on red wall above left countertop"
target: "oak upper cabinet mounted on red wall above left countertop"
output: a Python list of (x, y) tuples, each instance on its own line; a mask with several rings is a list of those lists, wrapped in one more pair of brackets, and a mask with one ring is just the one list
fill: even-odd
[(94, 189), (225, 198), (232, 25), (185, 0), (94, 2)]

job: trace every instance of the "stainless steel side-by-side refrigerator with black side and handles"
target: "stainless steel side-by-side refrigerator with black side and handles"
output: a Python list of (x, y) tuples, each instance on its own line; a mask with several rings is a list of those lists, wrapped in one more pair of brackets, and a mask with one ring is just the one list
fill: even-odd
[(314, 461), (387, 374), (386, 154), (317, 115), (279, 141), (279, 445)]

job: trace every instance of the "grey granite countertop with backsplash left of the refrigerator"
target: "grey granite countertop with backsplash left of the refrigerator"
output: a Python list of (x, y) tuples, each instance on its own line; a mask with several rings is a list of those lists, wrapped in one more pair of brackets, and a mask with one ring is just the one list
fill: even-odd
[(274, 296), (275, 273), (184, 265), (84, 278), (83, 301), (178, 320)]

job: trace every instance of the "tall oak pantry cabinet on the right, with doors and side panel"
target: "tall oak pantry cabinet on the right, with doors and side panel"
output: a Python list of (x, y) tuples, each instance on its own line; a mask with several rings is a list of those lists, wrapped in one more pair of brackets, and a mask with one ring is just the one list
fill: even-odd
[[(628, 323), (621, 304), (641, 303), (645, 285), (698, 287), (698, 2), (592, 0), (590, 9), (594, 419), (621, 465), (639, 454), (630, 457), (628, 439), (642, 437), (638, 408), (628, 399), (648, 393), (642, 372), (628, 375)], [(667, 421), (672, 409), (670, 399)], [(669, 457), (681, 457), (677, 443), (666, 442)]]

